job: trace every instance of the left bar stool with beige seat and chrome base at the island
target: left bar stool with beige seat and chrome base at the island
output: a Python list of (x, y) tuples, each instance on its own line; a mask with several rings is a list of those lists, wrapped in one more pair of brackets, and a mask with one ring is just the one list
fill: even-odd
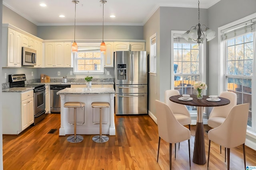
[[(74, 135), (71, 135), (67, 138), (67, 141), (68, 142), (71, 142), (71, 143), (78, 143), (78, 142), (82, 142), (84, 140), (84, 138), (81, 136), (81, 135), (76, 135), (76, 108), (77, 107), (80, 107), (81, 109), (85, 106), (85, 103), (83, 102), (66, 102), (64, 103), (64, 107), (73, 107), (74, 108), (74, 124), (73, 123), (70, 123), (68, 121), (68, 123), (70, 125), (74, 125)], [(84, 109), (84, 113), (85, 113), (85, 109)], [(80, 125), (84, 124), (83, 123), (78, 123)]]

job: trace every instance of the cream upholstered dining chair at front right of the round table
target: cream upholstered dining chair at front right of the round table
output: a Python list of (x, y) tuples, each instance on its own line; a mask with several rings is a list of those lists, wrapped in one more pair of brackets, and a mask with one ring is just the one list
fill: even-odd
[(220, 126), (208, 131), (209, 149), (207, 167), (209, 166), (210, 159), (210, 144), (211, 141), (213, 141), (214, 143), (217, 143), (227, 148), (228, 170), (230, 168), (230, 148), (243, 145), (245, 169), (246, 161), (244, 143), (246, 139), (248, 113), (249, 103), (233, 106), (224, 122)]

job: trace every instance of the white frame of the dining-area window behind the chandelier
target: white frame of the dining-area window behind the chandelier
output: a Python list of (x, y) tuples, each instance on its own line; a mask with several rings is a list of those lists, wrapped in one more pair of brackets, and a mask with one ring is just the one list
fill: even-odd
[[(174, 35), (175, 34), (183, 34), (186, 31), (175, 31), (171, 30), (171, 67), (174, 66)], [(184, 76), (191, 76), (193, 74), (180, 74)], [(200, 81), (206, 82), (206, 39), (204, 39), (203, 43), (199, 45), (199, 70), (198, 74), (200, 77)], [(174, 71), (173, 68), (171, 69), (171, 89), (174, 90)], [(204, 94), (206, 94), (206, 90), (204, 90)], [(190, 113), (196, 114), (196, 110), (190, 110)]]

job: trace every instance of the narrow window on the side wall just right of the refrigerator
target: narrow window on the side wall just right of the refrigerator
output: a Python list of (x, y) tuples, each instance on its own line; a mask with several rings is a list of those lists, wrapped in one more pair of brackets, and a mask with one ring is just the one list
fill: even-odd
[(156, 75), (156, 33), (150, 37), (150, 75)]

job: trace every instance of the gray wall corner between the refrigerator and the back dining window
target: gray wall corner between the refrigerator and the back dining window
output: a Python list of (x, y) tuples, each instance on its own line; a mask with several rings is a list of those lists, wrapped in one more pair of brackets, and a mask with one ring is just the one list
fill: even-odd
[[(200, 9), (200, 23), (208, 25), (207, 10)], [(160, 7), (144, 25), (146, 49), (150, 52), (149, 37), (157, 33), (157, 76), (149, 76), (149, 111), (155, 114), (155, 100), (164, 101), (164, 92), (171, 88), (171, 30), (187, 31), (198, 24), (196, 8)], [(207, 56), (206, 56), (207, 57)]]

